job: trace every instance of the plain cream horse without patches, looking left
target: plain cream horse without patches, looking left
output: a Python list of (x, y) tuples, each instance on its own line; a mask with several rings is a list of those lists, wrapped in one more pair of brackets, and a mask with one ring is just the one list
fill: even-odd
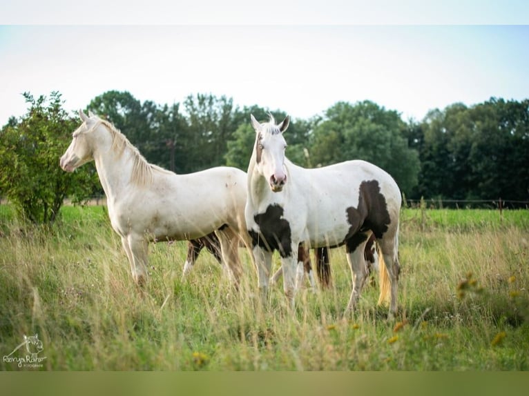
[(122, 238), (136, 283), (146, 281), (149, 241), (195, 239), (217, 232), (222, 259), (238, 285), (239, 241), (248, 243), (246, 174), (218, 167), (176, 175), (149, 164), (111, 123), (88, 114), (79, 111), (83, 122), (61, 157), (61, 168), (73, 172), (95, 161), (110, 223)]

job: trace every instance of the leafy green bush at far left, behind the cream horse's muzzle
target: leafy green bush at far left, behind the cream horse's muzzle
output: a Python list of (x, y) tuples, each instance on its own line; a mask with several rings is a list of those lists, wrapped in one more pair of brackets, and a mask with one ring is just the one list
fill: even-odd
[(97, 175), (87, 167), (67, 174), (59, 157), (71, 141), (79, 121), (61, 107), (61, 95), (35, 99), (20, 121), (8, 123), (0, 133), (0, 191), (15, 206), (17, 214), (35, 224), (50, 224), (57, 218), (66, 197), (75, 202), (90, 197)]

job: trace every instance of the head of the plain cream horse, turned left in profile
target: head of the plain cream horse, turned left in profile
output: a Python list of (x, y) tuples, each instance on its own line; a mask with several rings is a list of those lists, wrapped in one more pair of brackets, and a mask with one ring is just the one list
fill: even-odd
[(102, 122), (102, 119), (88, 112), (87, 117), (83, 110), (79, 110), (81, 125), (73, 132), (73, 139), (61, 157), (61, 168), (67, 172), (73, 172), (75, 168), (93, 160), (94, 134), (93, 132)]

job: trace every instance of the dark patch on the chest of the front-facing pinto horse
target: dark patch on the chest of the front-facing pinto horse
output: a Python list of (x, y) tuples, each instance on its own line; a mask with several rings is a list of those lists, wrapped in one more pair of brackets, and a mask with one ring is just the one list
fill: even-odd
[(259, 232), (249, 230), (253, 246), (259, 245), (270, 252), (278, 250), (281, 257), (292, 255), (290, 224), (282, 219), (283, 208), (278, 204), (268, 206), (266, 212), (258, 213), (253, 219), (259, 225)]

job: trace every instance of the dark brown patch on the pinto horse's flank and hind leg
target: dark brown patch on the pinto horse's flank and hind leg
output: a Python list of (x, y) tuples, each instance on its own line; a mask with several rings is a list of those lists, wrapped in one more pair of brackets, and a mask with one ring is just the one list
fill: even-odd
[(367, 239), (365, 232), (372, 230), (376, 239), (381, 239), (391, 217), (387, 212), (385, 197), (381, 194), (378, 181), (369, 180), (360, 183), (358, 192), (358, 208), (349, 206), (346, 209), (347, 222), (351, 225), (344, 239), (347, 252), (353, 252)]

